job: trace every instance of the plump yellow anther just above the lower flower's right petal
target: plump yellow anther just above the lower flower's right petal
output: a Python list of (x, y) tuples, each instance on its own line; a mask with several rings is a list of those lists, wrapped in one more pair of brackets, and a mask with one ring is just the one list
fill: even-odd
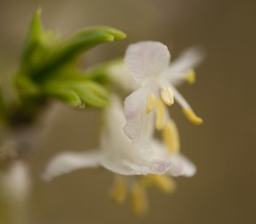
[(169, 121), (165, 128), (162, 130), (163, 140), (171, 153), (179, 152), (179, 136), (176, 124)]

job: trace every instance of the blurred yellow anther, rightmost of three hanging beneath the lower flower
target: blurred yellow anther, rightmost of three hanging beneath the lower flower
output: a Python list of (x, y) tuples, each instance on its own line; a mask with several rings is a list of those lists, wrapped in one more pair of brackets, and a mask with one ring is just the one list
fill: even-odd
[(162, 192), (170, 193), (176, 189), (176, 182), (168, 175), (148, 175), (151, 185), (158, 187)]

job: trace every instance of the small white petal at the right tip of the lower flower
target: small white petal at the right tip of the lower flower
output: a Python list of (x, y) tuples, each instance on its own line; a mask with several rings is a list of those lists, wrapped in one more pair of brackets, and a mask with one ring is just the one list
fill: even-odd
[(192, 164), (188, 158), (185, 158), (182, 154), (173, 154), (171, 162), (171, 168), (168, 170), (168, 173), (172, 176), (192, 176), (195, 175), (196, 167), (195, 164)]

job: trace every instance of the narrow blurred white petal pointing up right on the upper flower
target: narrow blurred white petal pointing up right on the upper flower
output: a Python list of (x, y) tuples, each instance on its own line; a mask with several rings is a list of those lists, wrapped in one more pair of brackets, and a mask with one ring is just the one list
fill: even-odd
[(203, 49), (199, 47), (187, 49), (163, 72), (163, 77), (171, 81), (172, 84), (182, 83), (185, 81), (189, 70), (198, 66), (204, 58)]

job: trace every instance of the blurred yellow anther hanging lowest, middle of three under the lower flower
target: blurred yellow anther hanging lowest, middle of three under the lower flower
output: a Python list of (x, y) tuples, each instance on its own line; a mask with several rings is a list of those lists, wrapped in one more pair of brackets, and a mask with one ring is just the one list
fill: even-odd
[(131, 209), (139, 216), (146, 215), (148, 212), (148, 195), (145, 187), (139, 182), (131, 188)]

